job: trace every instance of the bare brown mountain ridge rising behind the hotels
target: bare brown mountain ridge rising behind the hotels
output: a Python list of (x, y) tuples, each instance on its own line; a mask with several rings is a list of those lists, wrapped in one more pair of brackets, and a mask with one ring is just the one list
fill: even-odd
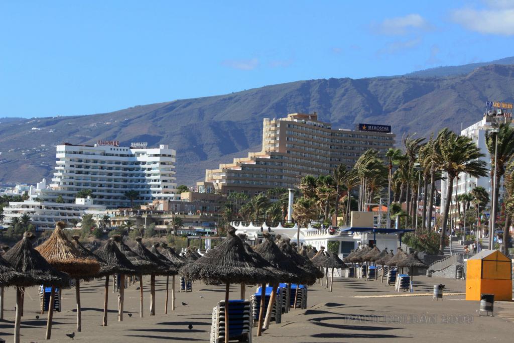
[(487, 100), (512, 102), (514, 66), (492, 64), (444, 77), (330, 78), (180, 99), (93, 115), (0, 119), (0, 184), (51, 177), (55, 145), (147, 141), (177, 150), (177, 182), (192, 185), (206, 168), (260, 151), (262, 119), (316, 111), (334, 128), (389, 124), (428, 136), (479, 121)]

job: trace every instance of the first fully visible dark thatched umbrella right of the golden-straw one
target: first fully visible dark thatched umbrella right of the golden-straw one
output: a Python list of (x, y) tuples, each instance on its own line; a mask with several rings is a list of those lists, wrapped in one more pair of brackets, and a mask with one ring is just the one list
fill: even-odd
[[(114, 274), (131, 275), (135, 274), (134, 265), (128, 261), (123, 252), (120, 251), (112, 238), (109, 238), (95, 254), (100, 261), (98, 277), (105, 277), (104, 303), (103, 303), (103, 326), (107, 326), (107, 303), (109, 299), (109, 278)], [(120, 292), (123, 287), (120, 287)], [(120, 296), (121, 298), (121, 296)], [(123, 306), (121, 304), (121, 306)], [(122, 310), (123, 311), (123, 310)]]

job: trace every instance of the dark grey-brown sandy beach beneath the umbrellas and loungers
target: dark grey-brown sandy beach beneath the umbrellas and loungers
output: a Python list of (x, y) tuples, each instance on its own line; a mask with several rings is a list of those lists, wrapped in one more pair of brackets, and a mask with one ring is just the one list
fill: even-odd
[[(170, 281), (171, 282), (171, 281)], [(54, 313), (51, 342), (71, 341), (65, 334), (75, 332), (74, 340), (93, 342), (209, 341), (213, 306), (224, 297), (224, 286), (193, 285), (193, 292), (176, 295), (176, 309), (164, 315), (166, 278), (157, 278), (156, 315), (149, 315), (150, 277), (144, 278), (144, 318), (139, 317), (137, 284), (125, 291), (125, 316), (117, 321), (117, 294), (109, 293), (108, 326), (102, 327), (103, 280), (83, 282), (82, 332), (76, 332), (75, 289), (63, 290), (61, 313)], [(432, 300), (434, 284), (446, 285), (443, 301)], [(112, 283), (111, 283), (112, 285)], [(460, 341), (511, 342), (514, 304), (496, 302), (494, 317), (478, 317), (478, 301), (465, 301), (464, 280), (415, 277), (415, 291), (395, 292), (380, 281), (335, 279), (334, 292), (309, 287), (307, 309), (292, 310), (282, 322), (270, 328), (256, 342), (434, 342)], [(178, 287), (177, 287), (178, 288)], [(171, 289), (171, 285), (170, 285)], [(248, 285), (247, 297), (255, 292)], [(170, 292), (171, 294), (171, 292)], [(231, 299), (238, 299), (240, 286), (231, 286)], [(453, 295), (452, 295), (453, 294)], [(182, 304), (185, 303), (185, 305)], [(0, 322), (0, 337), (12, 340), (15, 292), (5, 292), (5, 319)], [(35, 287), (25, 295), (21, 341), (45, 341), (46, 313), (38, 314), (39, 295)], [(132, 314), (132, 317), (128, 316)], [(36, 319), (39, 315), (40, 318)], [(192, 329), (188, 326), (192, 325)]]

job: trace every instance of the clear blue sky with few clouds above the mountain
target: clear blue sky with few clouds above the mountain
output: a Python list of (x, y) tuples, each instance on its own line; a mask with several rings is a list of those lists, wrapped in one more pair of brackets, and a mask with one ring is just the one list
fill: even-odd
[(0, 117), (514, 56), (514, 1), (0, 3)]

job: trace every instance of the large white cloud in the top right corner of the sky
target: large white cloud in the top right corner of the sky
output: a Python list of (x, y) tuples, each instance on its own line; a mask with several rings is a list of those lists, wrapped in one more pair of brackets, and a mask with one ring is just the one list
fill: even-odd
[(514, 35), (514, 1), (489, 0), (489, 8), (463, 8), (452, 12), (452, 20), (470, 31)]

